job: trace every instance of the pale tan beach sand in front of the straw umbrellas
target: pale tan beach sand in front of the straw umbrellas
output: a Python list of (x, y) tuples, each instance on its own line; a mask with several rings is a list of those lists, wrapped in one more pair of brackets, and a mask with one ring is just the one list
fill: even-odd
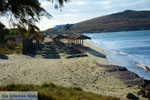
[(65, 59), (44, 59), (11, 54), (9, 59), (0, 59), (0, 84), (24, 83), (42, 84), (53, 82), (61, 86), (81, 87), (85, 91), (125, 97), (127, 93), (137, 93), (138, 88), (128, 87), (120, 79), (94, 64), (108, 64), (103, 49), (84, 43), (89, 47), (88, 57)]

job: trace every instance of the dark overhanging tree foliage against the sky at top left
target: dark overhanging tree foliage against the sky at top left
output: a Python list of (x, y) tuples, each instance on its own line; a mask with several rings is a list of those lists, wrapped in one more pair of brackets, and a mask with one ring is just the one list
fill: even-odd
[[(44, 1), (44, 0), (43, 0)], [(64, 2), (68, 0), (47, 0), (50, 2), (56, 1), (55, 7), (61, 8)], [(21, 30), (32, 28), (32, 31), (39, 31), (35, 23), (45, 16), (51, 18), (52, 16), (41, 7), (39, 0), (0, 0), (0, 17), (10, 19), (10, 22)], [(4, 24), (0, 21), (0, 27)]]

